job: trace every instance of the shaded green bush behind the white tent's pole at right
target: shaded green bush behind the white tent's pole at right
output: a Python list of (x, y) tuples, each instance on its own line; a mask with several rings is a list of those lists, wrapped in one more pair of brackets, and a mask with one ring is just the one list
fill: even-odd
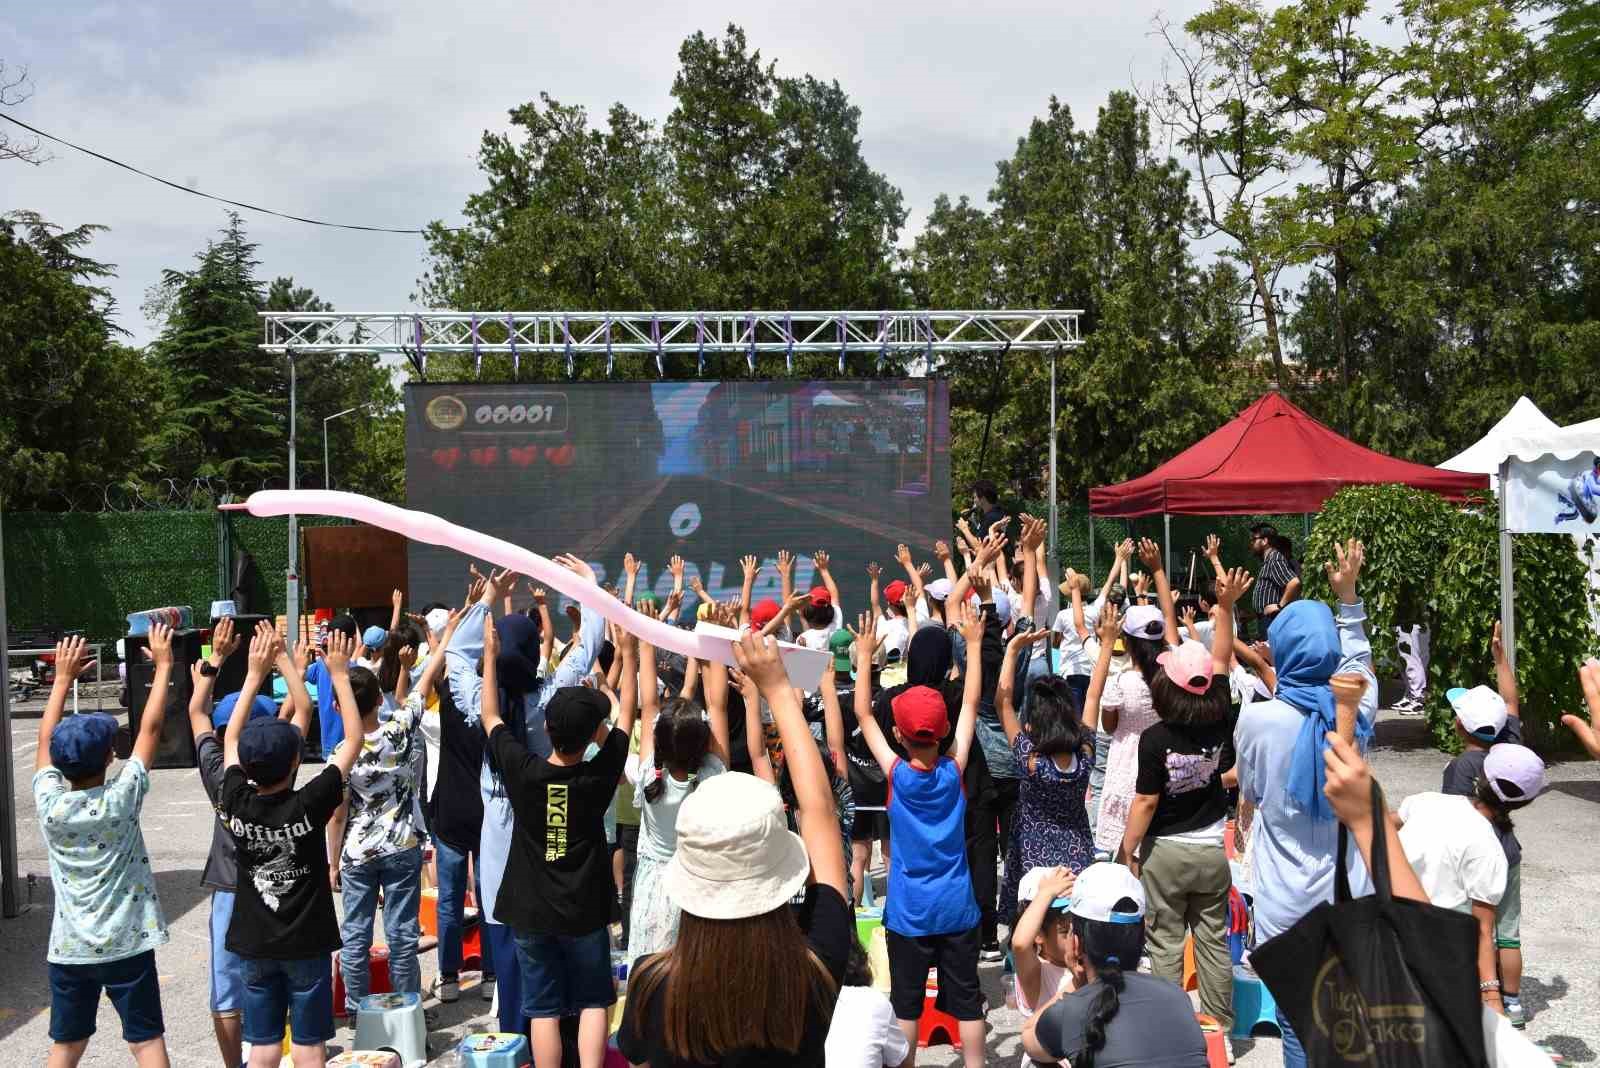
[[(1560, 716), (1582, 707), (1578, 665), (1597, 646), (1589, 571), (1566, 534), (1517, 534), (1512, 561), (1523, 737), (1536, 748), (1570, 748)], [(1490, 640), (1496, 620), (1499, 532), (1486, 510), (1464, 512), (1434, 587), (1427, 723), (1440, 748), (1459, 748), (1445, 691), (1494, 684)]]

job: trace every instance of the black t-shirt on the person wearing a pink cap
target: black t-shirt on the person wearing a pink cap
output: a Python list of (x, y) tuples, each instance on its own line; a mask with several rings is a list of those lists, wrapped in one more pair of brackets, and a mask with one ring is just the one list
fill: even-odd
[(1216, 723), (1155, 723), (1139, 735), (1138, 793), (1158, 795), (1147, 838), (1182, 835), (1227, 817), (1222, 772), (1234, 766), (1234, 731), (1227, 723), (1227, 676), (1206, 691), (1218, 702)]

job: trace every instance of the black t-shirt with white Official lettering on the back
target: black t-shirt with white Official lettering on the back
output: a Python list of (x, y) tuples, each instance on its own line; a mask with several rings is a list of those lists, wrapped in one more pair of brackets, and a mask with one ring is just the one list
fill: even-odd
[(322, 769), (301, 790), (261, 795), (234, 764), (219, 807), (238, 855), (227, 948), (245, 958), (299, 961), (339, 948), (328, 887), (326, 827), (344, 801), (344, 775)]

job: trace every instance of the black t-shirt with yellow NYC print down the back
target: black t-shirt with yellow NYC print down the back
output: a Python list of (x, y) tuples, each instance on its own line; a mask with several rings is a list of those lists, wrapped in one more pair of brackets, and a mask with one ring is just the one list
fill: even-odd
[(490, 751), (515, 817), (494, 923), (534, 934), (586, 935), (611, 923), (616, 883), (605, 811), (627, 759), (627, 735), (611, 729), (594, 759), (552, 764), (504, 723)]

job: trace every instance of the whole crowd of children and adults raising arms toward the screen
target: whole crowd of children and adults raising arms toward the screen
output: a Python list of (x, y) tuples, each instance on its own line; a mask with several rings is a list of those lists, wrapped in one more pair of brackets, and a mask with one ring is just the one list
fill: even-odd
[[(682, 564), (669, 564), (669, 598), (635, 601), (630, 556), (614, 595), (672, 622), (736, 628), (731, 670), (669, 656), (592, 611), (574, 612), (558, 644), (542, 592), (530, 587), (533, 603), (514, 611), (506, 572), (474, 572), (456, 611), (435, 603), (406, 619), (397, 595), (387, 630), (334, 620), (320, 649), (219, 620), (189, 716), (218, 817), (202, 879), (224, 1066), (240, 1063), (242, 1042), (253, 1065), (275, 1065), (285, 1022), (296, 1066), (323, 1063), (334, 1010), (366, 993), (379, 908), (394, 988), (422, 990), (426, 847), (437, 994), (459, 998), (470, 886), (485, 991), (498, 994), (499, 1030), (530, 1036), (536, 1068), (562, 1063), (570, 1017), (581, 1063), (600, 1065), (619, 994), (613, 951), (630, 969), (616, 1044), (632, 1063), (909, 1065), (934, 972), (965, 1063), (982, 1065), (994, 1006), (979, 975), (1003, 953), (1000, 927), (1027, 1057), (1205, 1065), (1179, 986), (1184, 942), (1200, 1007), (1226, 1033), (1235, 803), (1254, 812), (1259, 940), (1331, 899), (1339, 820), (1376, 819), (1355, 798), (1378, 691), (1357, 596), (1363, 550), (1350, 542), (1328, 564), (1336, 611), (1290, 600), (1267, 644), (1251, 646), (1235, 606), (1253, 579), (1227, 569), (1214, 540), (1205, 619), (1184, 619), (1187, 641), (1154, 542), (1120, 545), (1091, 603), (1086, 576), (1062, 576), (1069, 604), (1048, 627), (1035, 625), (1053, 579), (1043, 524), (1022, 516), (1016, 542), (1008, 556), (1002, 524), (963, 524), (957, 552), (936, 547), (934, 582), (901, 547), (906, 579), (880, 600), (874, 564), (853, 627), (822, 552), (813, 590), (794, 590), (781, 553), (782, 601), (752, 604), (760, 566), (747, 558), (739, 603), (691, 584), (693, 611)], [(1141, 576), (1128, 576), (1134, 556)], [(581, 560), (558, 563), (595, 580)], [(826, 651), (821, 678), (789, 678), (774, 644), (789, 636)], [(243, 684), (213, 703), (219, 667), (246, 643)], [(149, 654), (150, 700), (107, 779), (115, 721), (62, 716), (83, 646), (58, 649), (34, 777), (56, 894), (51, 1065), (82, 1057), (102, 990), (138, 1063), (166, 1063), (155, 970), (166, 926), (139, 828), (173, 671), (160, 625)], [(1520, 1026), (1512, 814), (1539, 795), (1544, 766), (1520, 745), (1498, 630), (1493, 659), (1493, 689), (1450, 692), (1464, 751), (1442, 793), (1389, 819), (1419, 892), (1478, 919), (1485, 1006)], [(274, 670), (282, 707), (267, 697)], [(1366, 683), (1354, 747), (1330, 734), (1341, 673)], [(1600, 715), (1600, 665), (1581, 676)], [(314, 711), (326, 766), (298, 782)], [(1587, 724), (1573, 729), (1600, 755)], [(1355, 839), (1370, 849), (1371, 828)], [(875, 843), (886, 998), (851, 921)], [(1366, 883), (1358, 860), (1352, 883)], [(1306, 1063), (1280, 1025), (1285, 1063)]]

